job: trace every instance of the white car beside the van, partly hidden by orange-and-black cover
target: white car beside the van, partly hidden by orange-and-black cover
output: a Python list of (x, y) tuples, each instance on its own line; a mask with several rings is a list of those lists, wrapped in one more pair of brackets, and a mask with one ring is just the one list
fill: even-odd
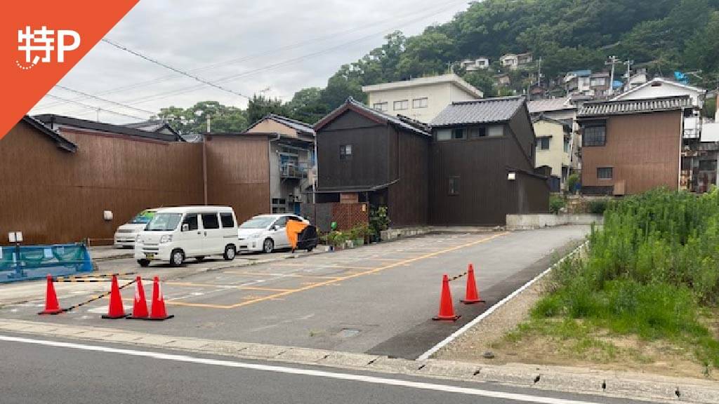
[(252, 217), (239, 225), (239, 251), (242, 252), (273, 252), (278, 248), (289, 248), (290, 240), (287, 238), (288, 219), (309, 223), (302, 216), (294, 214), (268, 214)]

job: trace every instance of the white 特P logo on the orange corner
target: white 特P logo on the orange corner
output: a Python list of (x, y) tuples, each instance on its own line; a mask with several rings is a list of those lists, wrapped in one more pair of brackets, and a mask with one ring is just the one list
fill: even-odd
[(17, 30), (17, 50), (25, 53), (24, 63), (15, 60), (18, 68), (29, 70), (37, 63), (52, 63), (52, 55), (56, 55), (55, 61), (65, 62), (65, 52), (75, 50), (80, 46), (80, 34), (71, 29), (47, 29), (45, 25), (41, 29), (30, 29), (25, 27)]

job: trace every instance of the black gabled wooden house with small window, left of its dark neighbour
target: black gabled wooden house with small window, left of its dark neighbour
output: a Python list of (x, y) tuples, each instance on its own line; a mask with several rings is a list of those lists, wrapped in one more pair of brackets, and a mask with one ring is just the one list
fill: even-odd
[(348, 98), (315, 132), (317, 202), (368, 202), (395, 225), (427, 223), (429, 128)]

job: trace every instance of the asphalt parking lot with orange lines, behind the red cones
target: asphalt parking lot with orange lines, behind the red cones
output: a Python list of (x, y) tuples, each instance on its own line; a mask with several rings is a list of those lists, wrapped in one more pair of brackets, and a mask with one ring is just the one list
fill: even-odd
[[(553, 255), (570, 249), (586, 226), (482, 234), (430, 234), (324, 254), (298, 255), (256, 265), (232, 267), (221, 260), (186, 264), (182, 276), (162, 285), (168, 312), (164, 321), (103, 320), (107, 299), (60, 316), (39, 317), (43, 295), (1, 306), (0, 316), (134, 329), (154, 334), (198, 336), (347, 352), (416, 357), (537, 273)], [(285, 253), (287, 254), (287, 253)], [(258, 260), (262, 255), (255, 256)], [(462, 318), (438, 323), (430, 318), (439, 304), (441, 276), (460, 275), (472, 262), (486, 304), (458, 305), (464, 277), (452, 281), (455, 308)], [(117, 264), (112, 264), (117, 265)], [(121, 267), (118, 271), (123, 272)], [(127, 262), (127, 269), (137, 270)], [(152, 274), (142, 271), (150, 298)], [(121, 277), (120, 285), (134, 279)], [(67, 287), (63, 284), (63, 287)], [(108, 283), (70, 284), (78, 292), (60, 296), (63, 307), (88, 300)], [(93, 285), (88, 289), (85, 285)], [(95, 289), (92, 289), (95, 288)], [(132, 310), (134, 285), (122, 290)]]

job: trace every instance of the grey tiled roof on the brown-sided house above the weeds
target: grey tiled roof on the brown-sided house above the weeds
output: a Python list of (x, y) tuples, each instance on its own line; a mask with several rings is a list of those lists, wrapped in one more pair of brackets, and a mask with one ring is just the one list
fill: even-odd
[(578, 116), (601, 116), (620, 114), (639, 114), (641, 112), (673, 111), (690, 108), (689, 96), (648, 98), (643, 100), (586, 102), (580, 108)]

